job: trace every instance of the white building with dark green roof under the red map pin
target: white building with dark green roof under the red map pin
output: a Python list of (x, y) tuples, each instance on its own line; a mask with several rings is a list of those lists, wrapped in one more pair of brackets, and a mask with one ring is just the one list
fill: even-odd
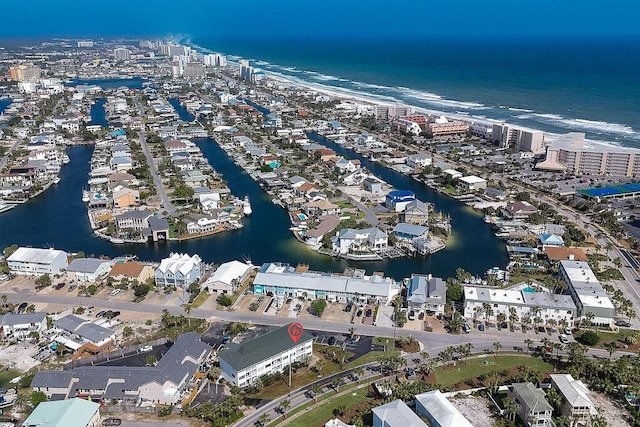
[(272, 328), (241, 344), (229, 343), (218, 353), (222, 375), (231, 384), (247, 387), (262, 375), (283, 372), (290, 364), (311, 358), (313, 335), (304, 331), (295, 342), (289, 329), (295, 323)]

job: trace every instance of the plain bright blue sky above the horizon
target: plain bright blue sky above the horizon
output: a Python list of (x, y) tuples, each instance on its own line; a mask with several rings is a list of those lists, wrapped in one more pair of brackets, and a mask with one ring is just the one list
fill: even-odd
[(0, 38), (640, 38), (638, 0), (32, 0), (0, 16)]

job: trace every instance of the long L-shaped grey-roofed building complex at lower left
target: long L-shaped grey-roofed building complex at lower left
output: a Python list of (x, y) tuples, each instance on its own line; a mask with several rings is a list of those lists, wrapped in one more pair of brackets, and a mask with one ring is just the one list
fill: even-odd
[(194, 374), (207, 359), (211, 347), (200, 335), (181, 335), (156, 366), (84, 366), (65, 371), (40, 371), (31, 382), (34, 391), (49, 399), (75, 396), (94, 401), (121, 401), (133, 405), (180, 403), (192, 387)]

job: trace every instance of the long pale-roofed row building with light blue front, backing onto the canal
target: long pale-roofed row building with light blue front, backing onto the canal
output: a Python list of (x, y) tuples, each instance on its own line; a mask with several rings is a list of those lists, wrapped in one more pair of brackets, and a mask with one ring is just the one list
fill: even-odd
[(364, 270), (348, 269), (344, 274), (312, 272), (289, 264), (265, 263), (253, 281), (256, 295), (326, 299), (329, 302), (356, 301), (389, 304), (400, 287), (390, 278), (365, 276)]

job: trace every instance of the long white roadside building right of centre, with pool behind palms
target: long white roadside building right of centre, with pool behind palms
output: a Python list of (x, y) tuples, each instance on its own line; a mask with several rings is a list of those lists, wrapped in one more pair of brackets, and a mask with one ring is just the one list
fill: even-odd
[[(577, 319), (577, 308), (569, 295), (528, 291), (465, 286), (464, 317), (495, 320), (499, 313), (503, 313), (509, 319), (509, 309), (513, 307), (519, 320), (529, 318), (533, 322), (538, 317), (541, 324), (553, 319), (557, 324), (572, 326)], [(484, 309), (485, 304), (491, 307), (490, 319)]]

